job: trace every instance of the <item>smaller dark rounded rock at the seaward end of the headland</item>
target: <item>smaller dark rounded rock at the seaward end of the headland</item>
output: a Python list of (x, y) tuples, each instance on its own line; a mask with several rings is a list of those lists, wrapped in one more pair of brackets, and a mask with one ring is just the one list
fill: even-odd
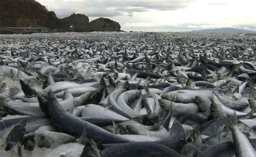
[(89, 23), (89, 31), (120, 31), (119, 23), (108, 18), (98, 18)]

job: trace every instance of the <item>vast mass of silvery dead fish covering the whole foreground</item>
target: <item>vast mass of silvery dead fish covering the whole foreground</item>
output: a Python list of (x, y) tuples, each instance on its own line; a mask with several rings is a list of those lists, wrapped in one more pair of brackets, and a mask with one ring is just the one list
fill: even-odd
[(255, 39), (0, 42), (0, 156), (256, 156)]

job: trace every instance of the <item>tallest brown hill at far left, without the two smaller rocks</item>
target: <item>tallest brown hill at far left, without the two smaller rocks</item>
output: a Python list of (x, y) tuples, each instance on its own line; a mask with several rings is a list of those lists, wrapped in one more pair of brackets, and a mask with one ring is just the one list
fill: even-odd
[(0, 0), (1, 26), (57, 28), (58, 20), (54, 12), (34, 0)]

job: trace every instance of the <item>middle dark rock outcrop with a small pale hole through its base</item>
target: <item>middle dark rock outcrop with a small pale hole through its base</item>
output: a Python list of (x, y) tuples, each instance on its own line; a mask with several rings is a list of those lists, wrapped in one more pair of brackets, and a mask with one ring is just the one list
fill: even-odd
[(72, 27), (75, 32), (85, 32), (89, 28), (89, 18), (79, 13), (73, 13), (71, 16), (63, 18), (62, 22), (64, 30), (69, 30)]

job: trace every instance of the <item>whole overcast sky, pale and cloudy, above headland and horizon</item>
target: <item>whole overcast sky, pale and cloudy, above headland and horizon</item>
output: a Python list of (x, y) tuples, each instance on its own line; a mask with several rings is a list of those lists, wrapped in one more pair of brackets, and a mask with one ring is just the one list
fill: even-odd
[(57, 17), (110, 18), (125, 31), (191, 31), (233, 27), (256, 31), (256, 0), (37, 0)]

